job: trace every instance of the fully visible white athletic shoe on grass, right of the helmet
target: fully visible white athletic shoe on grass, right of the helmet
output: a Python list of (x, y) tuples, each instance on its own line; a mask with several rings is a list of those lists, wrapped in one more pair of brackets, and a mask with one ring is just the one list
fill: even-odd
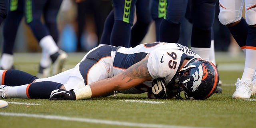
[(235, 99), (249, 99), (252, 94), (252, 82), (251, 81), (241, 81), (237, 78), (236, 82), (236, 92), (232, 95)]

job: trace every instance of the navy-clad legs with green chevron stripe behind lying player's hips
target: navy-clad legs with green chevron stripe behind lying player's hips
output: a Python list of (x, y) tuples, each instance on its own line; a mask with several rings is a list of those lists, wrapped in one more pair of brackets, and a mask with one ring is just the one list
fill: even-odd
[[(100, 44), (134, 47), (143, 40), (152, 21), (151, 0), (112, 0), (114, 9), (108, 15)], [(136, 6), (136, 21), (134, 11)]]

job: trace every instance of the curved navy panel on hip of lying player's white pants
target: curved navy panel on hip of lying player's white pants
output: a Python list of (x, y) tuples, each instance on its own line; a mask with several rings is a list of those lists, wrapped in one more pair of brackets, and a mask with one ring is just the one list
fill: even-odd
[(87, 74), (90, 68), (96, 64), (101, 58), (111, 56), (111, 51), (116, 51), (116, 47), (104, 45), (90, 52), (86, 58), (80, 63), (79, 71), (84, 78), (84, 83), (87, 84)]

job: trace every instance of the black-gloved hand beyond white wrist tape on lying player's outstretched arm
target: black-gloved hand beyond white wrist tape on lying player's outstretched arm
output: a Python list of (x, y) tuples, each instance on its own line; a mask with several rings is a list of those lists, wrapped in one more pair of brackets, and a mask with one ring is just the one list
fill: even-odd
[(56, 89), (53, 90), (49, 100), (76, 100), (76, 94), (72, 90)]

